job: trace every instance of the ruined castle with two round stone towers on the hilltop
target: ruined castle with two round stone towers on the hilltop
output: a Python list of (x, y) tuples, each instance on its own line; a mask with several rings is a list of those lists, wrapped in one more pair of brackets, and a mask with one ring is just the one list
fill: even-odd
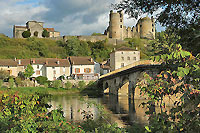
[(125, 38), (147, 38), (155, 39), (155, 20), (153, 18), (144, 17), (139, 19), (134, 27), (124, 26), (124, 14), (122, 11), (110, 11), (110, 21), (105, 35), (108, 38), (124, 40)]

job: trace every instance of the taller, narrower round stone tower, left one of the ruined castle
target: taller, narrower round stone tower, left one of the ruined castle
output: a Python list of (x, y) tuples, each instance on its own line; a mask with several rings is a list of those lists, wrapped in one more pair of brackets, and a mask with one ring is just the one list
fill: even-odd
[(123, 39), (123, 12), (110, 11), (109, 38)]

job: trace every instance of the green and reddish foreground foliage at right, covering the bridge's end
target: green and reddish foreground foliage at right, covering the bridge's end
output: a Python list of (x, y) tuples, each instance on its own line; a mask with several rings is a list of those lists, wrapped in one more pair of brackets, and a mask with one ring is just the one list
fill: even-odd
[[(143, 103), (149, 108), (148, 132), (196, 132), (200, 130), (200, 58), (176, 44), (176, 38), (168, 34), (154, 43), (154, 60), (162, 62), (164, 71), (155, 77), (145, 74), (145, 82), (139, 87), (149, 101)], [(166, 110), (165, 97), (180, 95), (179, 101), (171, 101), (174, 107)], [(161, 110), (155, 113), (152, 107), (158, 103)]]

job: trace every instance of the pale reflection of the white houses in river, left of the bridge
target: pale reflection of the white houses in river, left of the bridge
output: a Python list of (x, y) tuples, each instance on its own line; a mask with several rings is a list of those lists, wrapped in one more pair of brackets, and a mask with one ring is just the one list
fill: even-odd
[[(52, 96), (49, 104), (52, 105), (49, 111), (57, 109), (59, 105), (63, 108), (64, 116), (67, 120), (72, 121), (82, 121), (83, 114), (81, 112), (91, 112), (94, 116), (93, 119), (96, 119), (98, 115), (98, 110), (96, 107), (91, 106), (88, 108), (88, 104), (83, 100), (80, 100), (80, 96), (69, 96), (69, 95), (54, 95)], [(89, 102), (100, 103), (97, 98), (84, 98)]]

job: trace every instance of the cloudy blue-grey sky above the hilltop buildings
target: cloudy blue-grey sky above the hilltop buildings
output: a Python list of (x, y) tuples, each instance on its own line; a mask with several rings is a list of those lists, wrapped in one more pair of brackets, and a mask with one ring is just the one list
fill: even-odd
[[(44, 28), (55, 28), (61, 35), (103, 33), (108, 27), (111, 3), (120, 0), (0, 0), (0, 33), (13, 35), (13, 25), (27, 21), (44, 22)], [(137, 20), (124, 16), (125, 26)], [(157, 25), (157, 31), (164, 30)]]

